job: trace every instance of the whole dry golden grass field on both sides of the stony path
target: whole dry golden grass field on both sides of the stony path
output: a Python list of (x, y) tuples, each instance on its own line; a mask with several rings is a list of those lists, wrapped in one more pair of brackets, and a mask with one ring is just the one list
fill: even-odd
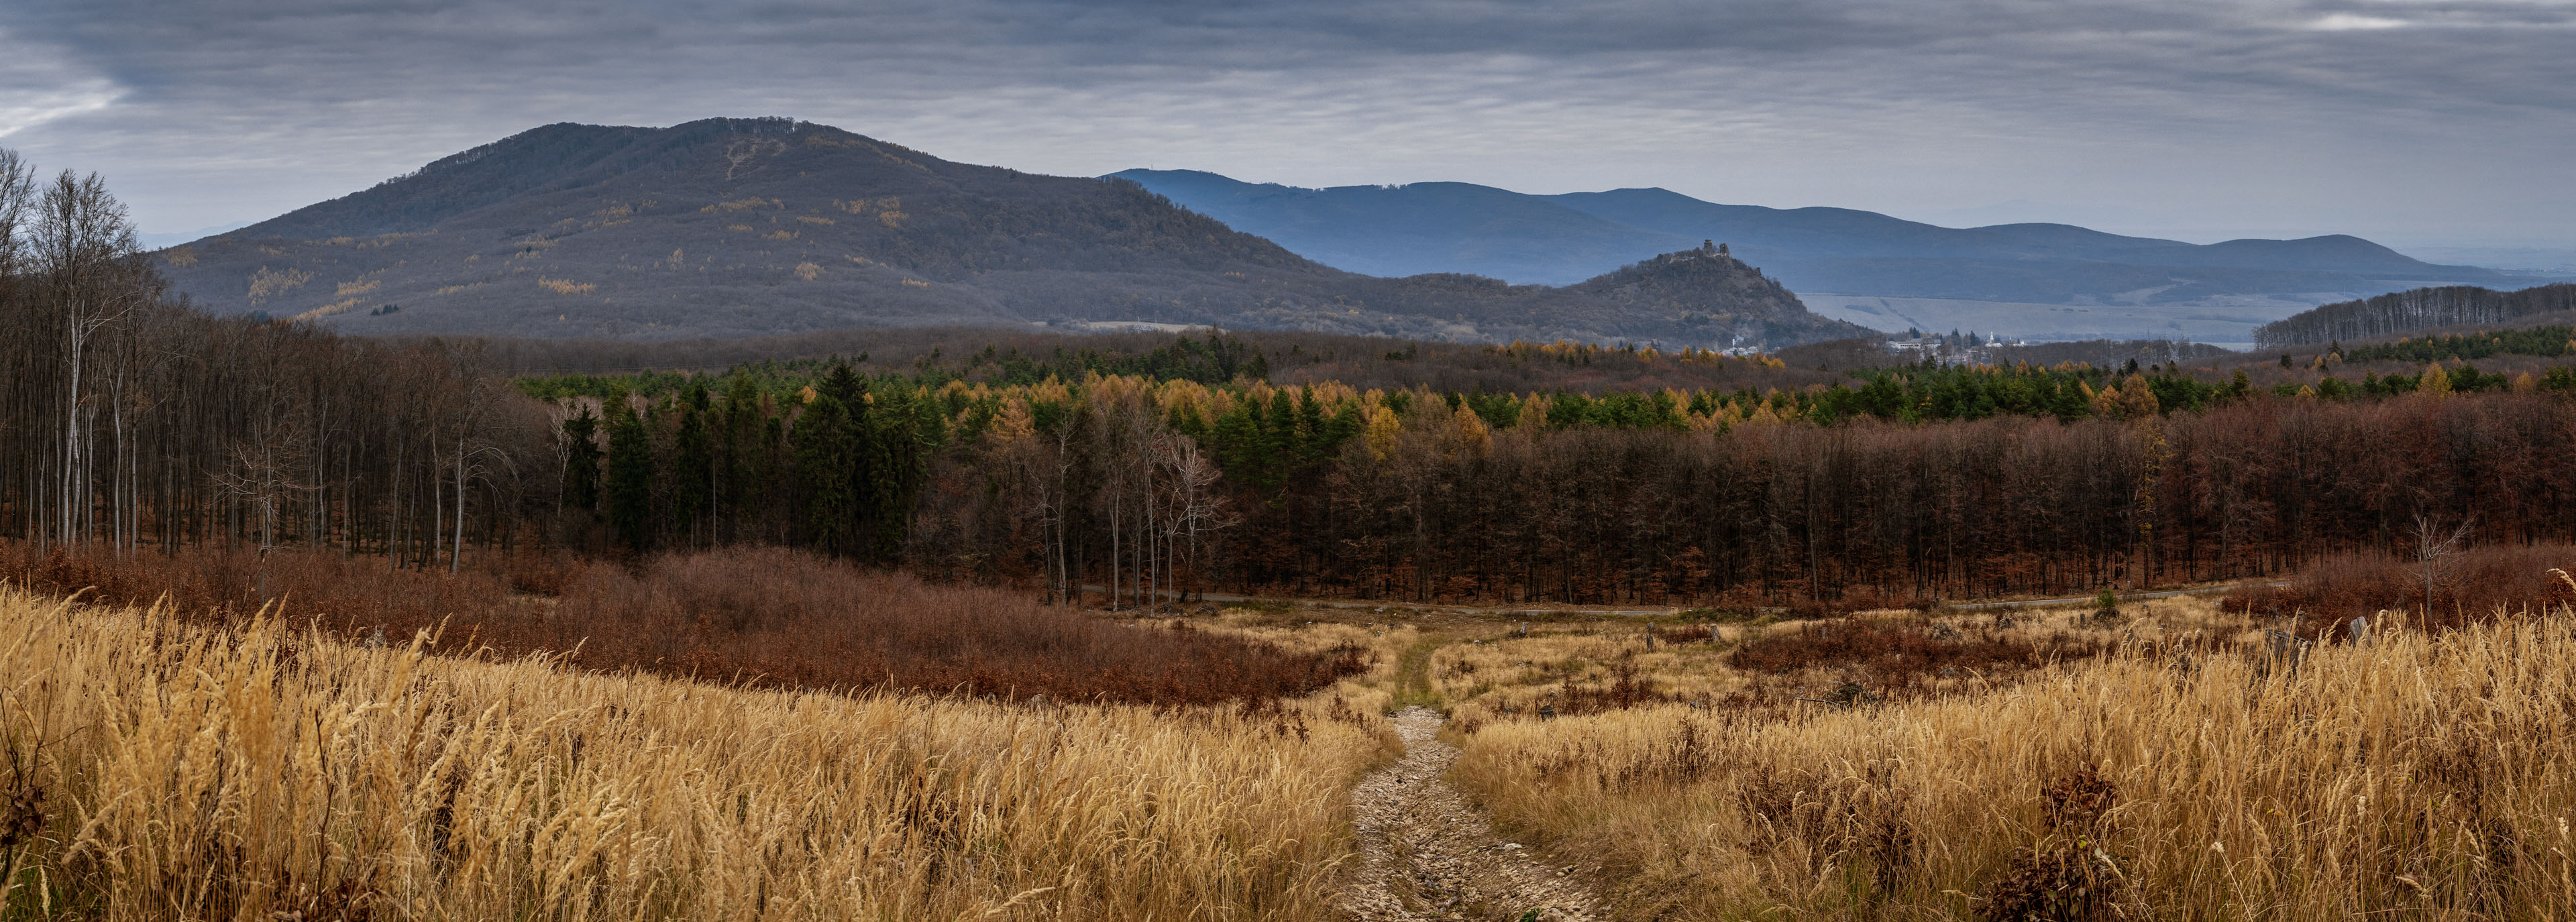
[[(1623, 919), (2561, 919), (2550, 579), (2362, 641), (2208, 597), (1066, 634), (1363, 662), (1213, 703), (799, 693), (0, 590), (0, 919), (1332, 919), (1347, 788), (1412, 703)], [(2259, 597), (2326, 597), (2290, 592)]]

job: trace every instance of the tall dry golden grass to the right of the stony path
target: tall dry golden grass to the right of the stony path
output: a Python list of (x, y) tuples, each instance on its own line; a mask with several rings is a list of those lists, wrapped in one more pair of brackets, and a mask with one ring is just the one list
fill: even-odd
[[(2298, 667), (2205, 600), (2107, 628), (2014, 616), (2130, 641), (1785, 719), (1486, 719), (1455, 780), (1636, 919), (2576, 917), (2576, 610), (2393, 628)], [(1515, 644), (1605, 654), (1533, 639), (1453, 659), (1507, 695), (1528, 667), (1486, 662), (1540, 659)]]

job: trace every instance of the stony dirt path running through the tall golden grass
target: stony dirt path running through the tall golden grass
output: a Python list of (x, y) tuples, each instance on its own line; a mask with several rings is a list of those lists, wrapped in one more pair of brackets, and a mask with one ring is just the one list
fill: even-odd
[[(1458, 747), (1437, 739), (1440, 713), (1404, 708), (1404, 760), (1352, 788), (1360, 822), (1360, 883), (1342, 896), (1358, 922), (1391, 919), (1607, 919), (1558, 868), (1502, 842), (1458, 788), (1440, 780)], [(1535, 914), (1533, 914), (1535, 912)]]

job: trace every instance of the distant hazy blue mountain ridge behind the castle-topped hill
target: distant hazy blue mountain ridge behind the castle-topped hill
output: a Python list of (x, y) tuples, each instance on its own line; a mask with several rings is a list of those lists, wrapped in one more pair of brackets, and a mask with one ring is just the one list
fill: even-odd
[(1909, 299), (2187, 304), (2514, 278), (2344, 234), (2190, 245), (2071, 224), (1935, 227), (1855, 209), (1726, 206), (1664, 188), (1525, 196), (1468, 183), (1293, 188), (1195, 170), (1113, 178), (1319, 263), (1383, 276), (1571, 283), (1618, 252), (1723, 240), (1795, 291)]

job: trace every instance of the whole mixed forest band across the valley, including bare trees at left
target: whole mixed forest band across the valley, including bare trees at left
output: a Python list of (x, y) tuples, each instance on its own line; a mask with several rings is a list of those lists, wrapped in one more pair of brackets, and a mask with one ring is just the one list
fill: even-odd
[(2576, 538), (2566, 368), (2344, 381), (2326, 368), (2342, 355), (2318, 355), (2295, 386), (2079, 363), (1819, 384), (1759, 355), (1481, 348), (1785, 384), (1515, 394), (1273, 384), (1260, 348), (1177, 335), (1087, 363), (507, 381), (474, 343), (167, 304), (95, 178), (21, 167), (8, 196), (0, 304), (31, 335), (0, 355), (0, 523), (39, 549), (456, 569), (533, 546), (762, 543), (1115, 605), (1832, 605), (2269, 574), (2393, 546), (2416, 515)]

